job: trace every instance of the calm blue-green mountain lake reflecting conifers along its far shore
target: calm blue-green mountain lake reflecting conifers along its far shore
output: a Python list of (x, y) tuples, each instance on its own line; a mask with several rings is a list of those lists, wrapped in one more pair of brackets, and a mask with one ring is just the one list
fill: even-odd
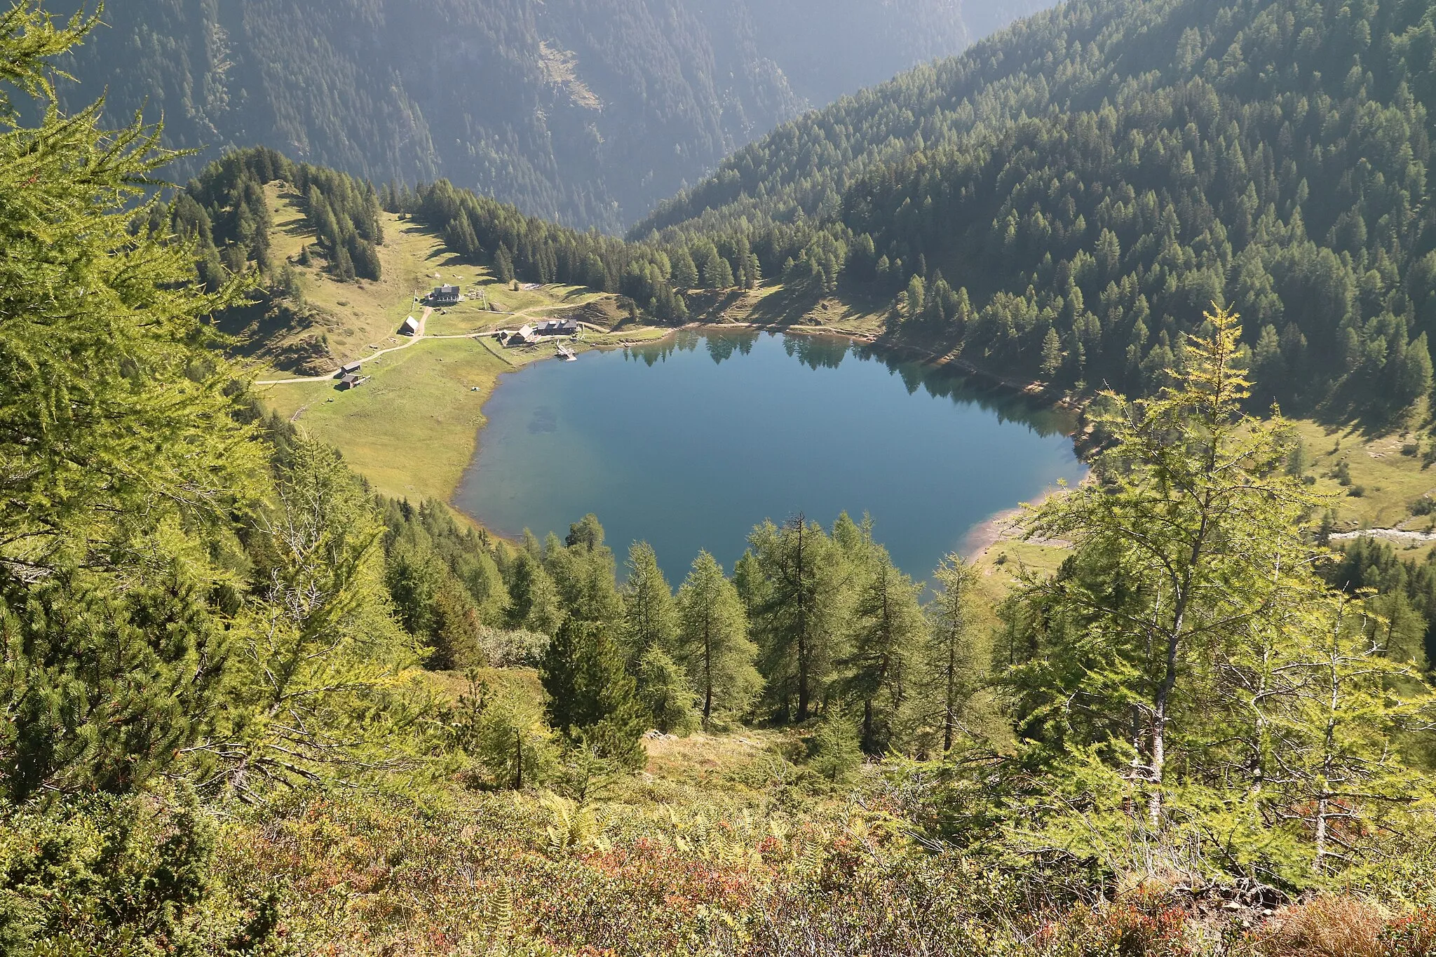
[(684, 331), (503, 376), (455, 496), (540, 538), (593, 512), (622, 564), (653, 545), (676, 587), (699, 548), (725, 568), (751, 528), (869, 512), (926, 578), (995, 512), (1086, 469), (1070, 419), (846, 340)]

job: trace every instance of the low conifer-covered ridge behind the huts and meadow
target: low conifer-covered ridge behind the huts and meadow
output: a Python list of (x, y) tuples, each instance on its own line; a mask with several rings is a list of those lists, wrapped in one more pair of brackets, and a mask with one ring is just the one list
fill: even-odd
[[(292, 244), (297, 253), (274, 251), (280, 227), (270, 207), (270, 187), (290, 197), (306, 232), (313, 234), (313, 242), (299, 238)], [(313, 366), (314, 372), (326, 372), (337, 364), (337, 357), (327, 354), (327, 336), (306, 336), (276, 347), (292, 333), (336, 321), (306, 301), (300, 273), (314, 270), (312, 275), (360, 288), (365, 281), (383, 278), (383, 212), (399, 214), (406, 230), (418, 227), (448, 251), (448, 263), (484, 264), (505, 287), (516, 278), (587, 286), (622, 294), (632, 300), (633, 310), (642, 308), (662, 323), (688, 316), (669, 281), (669, 258), (653, 244), (527, 217), (511, 204), (458, 189), (444, 179), (416, 188), (375, 188), (263, 146), (237, 149), (208, 164), (171, 201), (151, 207), (144, 225), (157, 235), (192, 241), (200, 277), (211, 291), (246, 274), (254, 278), (247, 296), (218, 317), (220, 327), (238, 337), (231, 344), (246, 354), (261, 353), (274, 367), (299, 372)], [(393, 225), (395, 218), (389, 222)], [(428, 260), (409, 265), (419, 264), (425, 275), (435, 265)], [(411, 291), (395, 293), (408, 301)]]

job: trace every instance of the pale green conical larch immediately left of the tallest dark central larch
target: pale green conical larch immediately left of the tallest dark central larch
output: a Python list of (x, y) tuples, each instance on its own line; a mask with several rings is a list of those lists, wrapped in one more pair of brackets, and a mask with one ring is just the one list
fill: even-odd
[(754, 667), (757, 646), (748, 640), (748, 616), (738, 590), (707, 551), (698, 552), (678, 590), (681, 659), (696, 689), (704, 730), (714, 713), (741, 715), (763, 687)]

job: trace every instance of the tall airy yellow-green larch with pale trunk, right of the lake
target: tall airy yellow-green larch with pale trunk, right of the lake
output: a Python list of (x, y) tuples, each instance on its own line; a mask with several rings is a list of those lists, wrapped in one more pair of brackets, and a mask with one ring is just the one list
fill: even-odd
[(1093, 481), (1028, 517), (1028, 537), (1074, 551), (1030, 583), (1035, 654), (1010, 676), (1020, 730), (1106, 749), (1155, 829), (1172, 766), (1206, 749), (1212, 663), (1274, 614), (1310, 554), (1301, 517), (1314, 499), (1282, 468), (1284, 426), (1241, 412), (1238, 317), (1216, 307), (1208, 321), (1175, 385), (1136, 403), (1111, 396), (1099, 413), (1111, 440)]

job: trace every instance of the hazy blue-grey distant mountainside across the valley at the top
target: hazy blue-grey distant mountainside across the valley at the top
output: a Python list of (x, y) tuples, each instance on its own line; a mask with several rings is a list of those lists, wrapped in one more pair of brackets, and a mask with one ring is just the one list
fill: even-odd
[(162, 113), (205, 158), (263, 143), (620, 230), (777, 123), (1040, 4), (125, 0), (60, 92), (108, 89), (115, 122)]

